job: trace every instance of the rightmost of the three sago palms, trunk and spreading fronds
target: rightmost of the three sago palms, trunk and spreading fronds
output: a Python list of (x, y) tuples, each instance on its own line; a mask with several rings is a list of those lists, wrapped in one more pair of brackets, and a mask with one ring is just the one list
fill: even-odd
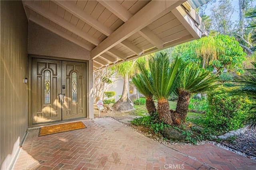
[(190, 96), (218, 88), (220, 85), (216, 84), (218, 79), (217, 76), (212, 76), (210, 71), (192, 64), (182, 71), (176, 88), (176, 94), (178, 95), (176, 107), (178, 121), (175, 121), (176, 124), (180, 124), (180, 121), (185, 122)]

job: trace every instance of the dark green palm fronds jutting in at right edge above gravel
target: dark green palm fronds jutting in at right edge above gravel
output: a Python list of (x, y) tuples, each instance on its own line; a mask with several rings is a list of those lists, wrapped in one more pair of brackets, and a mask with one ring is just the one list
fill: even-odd
[(256, 62), (252, 64), (254, 68), (246, 69), (249, 75), (234, 77), (233, 82), (239, 83), (239, 87), (232, 89), (230, 94), (233, 96), (249, 96), (254, 100), (254, 103), (250, 107), (250, 115), (247, 117), (245, 123), (250, 124), (251, 127), (256, 127)]

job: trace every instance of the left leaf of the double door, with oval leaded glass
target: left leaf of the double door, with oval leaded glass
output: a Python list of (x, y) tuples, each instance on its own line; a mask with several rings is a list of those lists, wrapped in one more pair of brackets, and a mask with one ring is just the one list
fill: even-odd
[(32, 58), (32, 123), (62, 119), (61, 61)]

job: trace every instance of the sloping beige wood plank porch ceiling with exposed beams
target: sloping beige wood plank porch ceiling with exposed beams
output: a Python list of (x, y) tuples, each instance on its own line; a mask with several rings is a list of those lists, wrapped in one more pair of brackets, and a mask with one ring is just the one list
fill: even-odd
[(28, 19), (90, 51), (94, 71), (205, 35), (186, 0), (23, 1)]

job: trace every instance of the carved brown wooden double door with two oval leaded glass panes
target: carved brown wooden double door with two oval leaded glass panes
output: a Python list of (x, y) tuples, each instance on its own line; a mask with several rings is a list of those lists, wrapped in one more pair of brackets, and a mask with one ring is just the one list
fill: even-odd
[(32, 124), (86, 117), (85, 63), (32, 58)]

